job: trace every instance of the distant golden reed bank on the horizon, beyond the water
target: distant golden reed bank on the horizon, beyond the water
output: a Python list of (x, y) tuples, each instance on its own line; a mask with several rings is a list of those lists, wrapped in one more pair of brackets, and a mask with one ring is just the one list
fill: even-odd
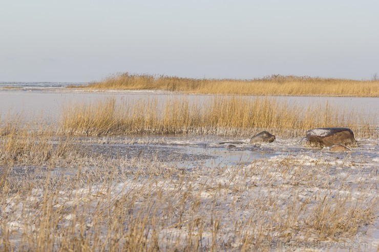
[(271, 75), (262, 79), (194, 79), (117, 74), (83, 86), (91, 89), (161, 89), (198, 94), (378, 97), (379, 81)]

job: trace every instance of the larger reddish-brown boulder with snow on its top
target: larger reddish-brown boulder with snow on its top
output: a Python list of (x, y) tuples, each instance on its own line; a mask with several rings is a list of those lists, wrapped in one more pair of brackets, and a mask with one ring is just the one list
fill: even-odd
[(354, 133), (348, 128), (317, 128), (307, 131), (306, 138), (319, 146), (354, 144)]

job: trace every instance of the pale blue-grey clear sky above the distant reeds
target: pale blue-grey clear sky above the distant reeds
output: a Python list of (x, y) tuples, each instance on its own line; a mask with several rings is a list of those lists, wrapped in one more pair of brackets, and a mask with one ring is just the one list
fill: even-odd
[(0, 0), (0, 82), (371, 79), (377, 0)]

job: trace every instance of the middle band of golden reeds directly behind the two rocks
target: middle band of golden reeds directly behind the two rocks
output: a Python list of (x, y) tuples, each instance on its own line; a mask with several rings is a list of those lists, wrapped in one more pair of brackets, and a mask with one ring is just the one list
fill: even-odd
[(349, 127), (356, 136), (376, 134), (374, 119), (326, 104), (288, 105), (270, 98), (216, 96), (203, 101), (156, 99), (117, 103), (115, 99), (71, 104), (59, 122), (65, 134), (196, 133), (251, 135), (271, 130), (282, 136), (301, 136), (318, 127)]

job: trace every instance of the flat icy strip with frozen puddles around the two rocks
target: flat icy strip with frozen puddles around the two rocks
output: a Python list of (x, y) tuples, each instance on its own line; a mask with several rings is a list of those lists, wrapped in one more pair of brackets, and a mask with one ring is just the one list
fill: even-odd
[[(215, 135), (131, 135), (122, 137), (104, 136), (101, 138), (77, 138), (77, 143), (86, 146), (90, 153), (104, 157), (143, 157), (158, 158), (161, 162), (196, 167), (230, 166), (248, 164), (254, 159), (278, 155), (324, 155), (335, 158), (375, 158), (379, 154), (377, 140), (356, 139), (357, 146), (349, 152), (330, 152), (329, 148), (319, 149), (300, 145), (301, 138), (280, 139), (273, 143), (251, 145), (249, 139), (222, 137)], [(226, 142), (225, 144), (220, 144)], [(231, 143), (227, 143), (231, 142)], [(235, 144), (233, 142), (242, 142)], [(193, 163), (192, 163), (193, 162)]]

